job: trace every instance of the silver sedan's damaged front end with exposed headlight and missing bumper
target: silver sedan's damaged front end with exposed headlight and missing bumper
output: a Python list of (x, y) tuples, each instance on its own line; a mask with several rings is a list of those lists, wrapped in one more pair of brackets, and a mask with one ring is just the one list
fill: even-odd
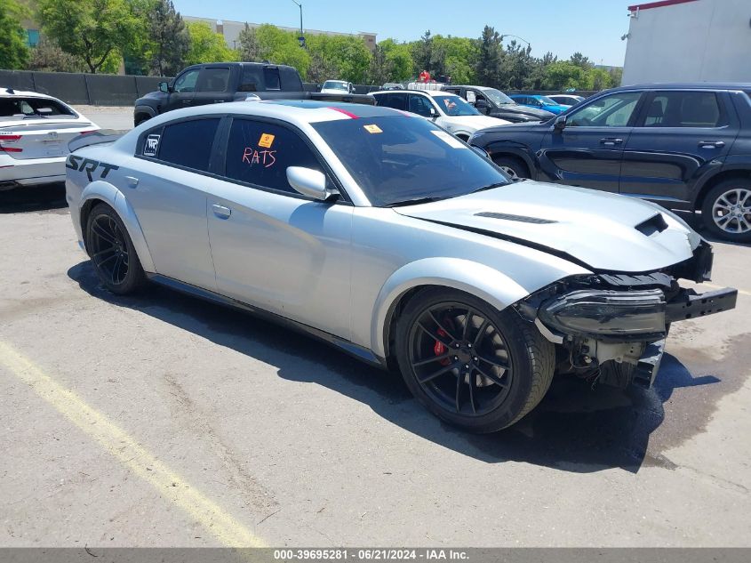
[(556, 373), (651, 387), (671, 323), (735, 308), (736, 289), (697, 294), (676, 281), (706, 281), (711, 269), (711, 248), (702, 243), (690, 260), (670, 268), (566, 278), (515, 309), (556, 344)]

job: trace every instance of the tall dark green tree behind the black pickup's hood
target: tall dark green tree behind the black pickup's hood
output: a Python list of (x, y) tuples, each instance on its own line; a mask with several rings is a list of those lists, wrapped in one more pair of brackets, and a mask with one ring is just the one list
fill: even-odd
[(148, 12), (147, 60), (150, 74), (175, 76), (185, 66), (190, 36), (172, 0), (153, 0)]

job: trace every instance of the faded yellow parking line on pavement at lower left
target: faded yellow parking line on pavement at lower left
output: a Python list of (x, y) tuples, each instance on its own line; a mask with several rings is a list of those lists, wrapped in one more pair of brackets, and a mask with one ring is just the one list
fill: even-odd
[(159, 495), (200, 522), (220, 543), (230, 547), (266, 546), (258, 536), (199, 493), (107, 416), (87, 405), (72, 390), (55, 382), (5, 342), (0, 342), (0, 366), (7, 368), (60, 414), (99, 442), (109, 454), (154, 487)]

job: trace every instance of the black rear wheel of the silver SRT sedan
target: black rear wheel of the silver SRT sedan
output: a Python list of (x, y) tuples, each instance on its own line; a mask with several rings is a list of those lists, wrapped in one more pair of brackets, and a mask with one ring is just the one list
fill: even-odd
[(113, 294), (131, 294), (146, 281), (131, 237), (109, 205), (96, 205), (89, 213), (86, 250), (102, 285)]

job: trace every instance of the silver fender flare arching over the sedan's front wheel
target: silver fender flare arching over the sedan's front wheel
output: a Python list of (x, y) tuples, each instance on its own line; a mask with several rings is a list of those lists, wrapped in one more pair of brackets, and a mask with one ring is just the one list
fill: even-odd
[(386, 358), (388, 354), (387, 333), (395, 305), (403, 294), (419, 286), (458, 289), (475, 295), (497, 310), (504, 310), (530, 294), (499, 270), (475, 261), (441, 256), (412, 261), (388, 277), (373, 305), (371, 350), (379, 358)]

